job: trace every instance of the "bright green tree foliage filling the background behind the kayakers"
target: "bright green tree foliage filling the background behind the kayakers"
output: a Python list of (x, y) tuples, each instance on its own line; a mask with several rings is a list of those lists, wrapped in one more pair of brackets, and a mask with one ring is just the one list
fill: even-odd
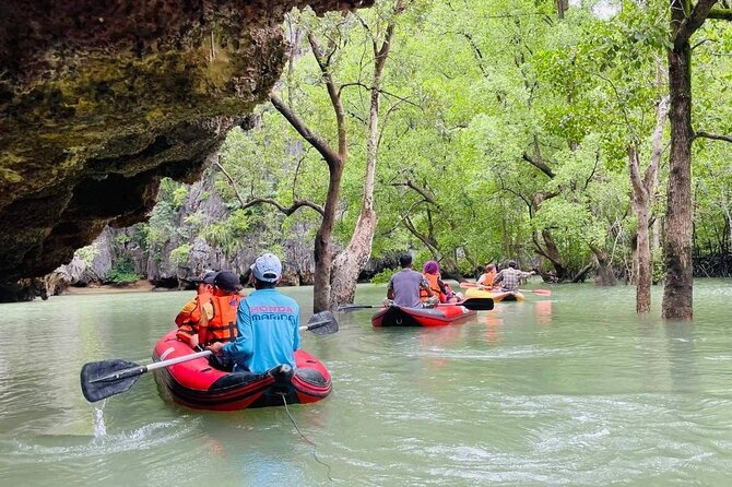
[[(637, 219), (627, 149), (638, 147), (644, 170), (656, 104), (668, 92), (668, 4), (622, 2), (600, 17), (597, 3), (572, 2), (558, 20), (554, 2), (544, 0), (409, 2), (383, 73), (374, 257), (411, 248), (424, 262), (434, 251), (463, 273), (486, 261), (539, 257), (547, 270), (552, 263), (540, 257), (547, 253), (546, 236), (570, 273), (590, 262), (592, 249), (615, 252), (617, 262), (630, 254)], [(334, 147), (333, 107), (307, 34), (332, 55), (349, 134), (334, 227), (341, 247), (363, 199), (373, 45), (393, 4), (379, 1), (358, 16), (296, 12), (287, 26), (298, 31), (300, 55), (285, 70), (280, 97)], [(732, 34), (705, 25), (704, 39), (694, 54), (695, 129), (730, 134)], [(180, 262), (197, 238), (232, 258), (245, 243), (270, 249), (287, 238), (311, 241), (320, 222), (311, 209), (287, 217), (270, 204), (241, 209), (256, 198), (322, 204), (328, 183), (321, 154), (276, 110), (265, 105), (256, 116), (252, 130), (232, 130), (222, 146), (226, 175), (212, 169), (213, 187), (164, 179), (150, 223), (131, 241), (153, 256), (175, 249)], [(725, 212), (732, 212), (728, 152), (721, 142), (694, 145), (697, 251), (724, 247)], [(666, 173), (662, 165), (651, 206), (657, 219)], [(221, 199), (224, 215), (206, 214), (201, 203), (210, 198)], [(654, 262), (660, 269), (658, 256)]]

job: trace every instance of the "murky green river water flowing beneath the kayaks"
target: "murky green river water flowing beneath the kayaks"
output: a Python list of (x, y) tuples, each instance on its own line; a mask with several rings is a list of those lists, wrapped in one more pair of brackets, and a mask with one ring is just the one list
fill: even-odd
[[(0, 305), (0, 485), (729, 485), (732, 281), (696, 283), (693, 324), (659, 318), (661, 288), (646, 318), (630, 286), (551, 289), (438, 329), (340, 313), (303, 335), (328, 399), (235, 413), (165, 402), (152, 373), (81, 394), (87, 361), (150, 361), (192, 292)], [(311, 288), (284, 292), (307, 319)]]

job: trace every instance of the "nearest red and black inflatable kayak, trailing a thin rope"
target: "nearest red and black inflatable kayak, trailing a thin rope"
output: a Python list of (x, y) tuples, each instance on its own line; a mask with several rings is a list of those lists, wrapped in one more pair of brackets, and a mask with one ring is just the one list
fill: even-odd
[[(176, 330), (153, 349), (154, 360), (190, 355), (193, 351), (176, 338)], [(328, 369), (304, 351), (295, 352), (297, 369), (280, 366), (267, 373), (225, 372), (205, 357), (155, 370), (155, 380), (170, 399), (194, 409), (237, 411), (247, 407), (312, 403), (330, 394)], [(284, 397), (284, 401), (283, 401)]]

